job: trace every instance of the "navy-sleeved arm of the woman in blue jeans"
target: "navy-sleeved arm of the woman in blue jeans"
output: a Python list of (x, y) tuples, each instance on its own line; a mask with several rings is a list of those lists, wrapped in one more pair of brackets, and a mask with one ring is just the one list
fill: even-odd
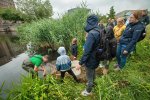
[(127, 47), (125, 48), (125, 51), (129, 52), (132, 47), (136, 44), (136, 42), (138, 41), (138, 39), (140, 38), (141, 34), (142, 34), (142, 31), (144, 30), (144, 27), (136, 27), (134, 29), (134, 32), (133, 32), (133, 36), (132, 36), (132, 40), (131, 42), (127, 45)]

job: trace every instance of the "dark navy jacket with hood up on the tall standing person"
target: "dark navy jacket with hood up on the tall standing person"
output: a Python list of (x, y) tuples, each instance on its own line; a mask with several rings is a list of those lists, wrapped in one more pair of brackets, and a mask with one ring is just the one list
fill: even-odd
[(100, 42), (100, 28), (98, 26), (97, 16), (91, 15), (87, 18), (85, 31), (88, 33), (88, 36), (84, 45), (84, 53), (79, 64), (84, 64), (88, 68), (95, 69), (99, 65), (99, 61), (95, 58), (95, 50)]

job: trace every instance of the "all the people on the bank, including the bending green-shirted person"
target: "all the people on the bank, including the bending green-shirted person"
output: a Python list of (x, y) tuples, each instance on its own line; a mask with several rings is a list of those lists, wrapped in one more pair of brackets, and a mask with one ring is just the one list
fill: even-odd
[[(144, 18), (147, 18), (145, 15), (143, 16)], [(117, 62), (115, 65), (115, 70), (118, 71), (124, 68), (127, 61), (127, 56), (133, 50), (135, 50), (136, 43), (139, 41), (141, 35), (143, 35), (143, 32), (145, 32), (145, 26), (147, 25), (148, 21), (147, 19), (147, 22), (144, 22), (145, 20), (141, 21), (141, 18), (141, 12), (135, 11), (128, 18), (129, 23), (127, 25), (125, 24), (125, 19), (121, 17), (117, 18), (116, 21), (110, 21), (109, 19), (106, 28), (102, 22), (99, 23), (99, 19), (96, 15), (91, 15), (87, 18), (86, 26), (84, 28), (86, 31), (86, 39), (83, 47), (84, 52), (79, 60), (79, 64), (76, 66), (77, 70), (81, 69), (81, 66), (85, 66), (87, 86), (86, 89), (81, 93), (83, 96), (88, 96), (91, 94), (92, 87), (94, 86), (95, 69), (98, 66), (103, 66), (103, 74), (107, 74), (110, 61), (112, 58), (116, 57)], [(108, 46), (111, 45), (109, 50), (111, 54), (106, 53), (106, 59), (104, 58), (103, 60), (100, 60), (97, 59), (97, 52), (105, 53), (104, 50), (99, 48), (101, 45), (100, 41), (104, 40), (103, 36), (105, 36)], [(112, 49), (115, 47), (115, 45), (111, 44), (112, 41), (115, 41), (114, 43), (116, 43), (115, 50)], [(61, 81), (63, 82), (65, 73), (68, 72), (70, 75), (72, 75), (76, 82), (79, 82), (71, 69), (71, 60), (77, 60), (77, 39), (74, 38), (72, 40), (71, 57), (66, 54), (65, 47), (59, 47), (58, 53), (60, 56), (56, 60), (56, 69), (61, 73)], [(34, 75), (37, 75), (38, 71), (43, 71), (43, 75), (45, 76), (46, 69), (43, 66), (43, 63), (46, 63), (47, 61), (48, 55), (34, 55), (23, 62), (23, 69), (31, 72), (33, 77)], [(41, 68), (39, 68), (39, 66), (41, 66)]]

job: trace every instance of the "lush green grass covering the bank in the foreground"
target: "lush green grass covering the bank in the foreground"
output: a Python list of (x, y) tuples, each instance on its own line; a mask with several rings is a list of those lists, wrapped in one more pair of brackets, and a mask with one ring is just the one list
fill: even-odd
[(22, 83), (9, 92), (8, 99), (150, 100), (150, 26), (147, 30), (146, 38), (137, 44), (137, 54), (128, 58), (122, 71), (113, 71), (113, 61), (108, 75), (97, 75), (92, 96), (80, 95), (85, 89), (84, 83), (77, 84), (72, 78), (66, 78), (61, 84), (58, 79), (48, 76), (46, 79), (23, 77)]

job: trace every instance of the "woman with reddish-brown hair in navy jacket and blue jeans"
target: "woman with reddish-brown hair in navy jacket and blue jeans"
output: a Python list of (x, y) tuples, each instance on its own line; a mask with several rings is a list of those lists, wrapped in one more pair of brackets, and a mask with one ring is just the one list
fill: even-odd
[(140, 38), (142, 31), (145, 29), (144, 25), (139, 21), (141, 13), (135, 11), (130, 15), (129, 24), (127, 25), (120, 42), (117, 46), (117, 68), (115, 70), (123, 69), (127, 56), (135, 47), (138, 39)]

